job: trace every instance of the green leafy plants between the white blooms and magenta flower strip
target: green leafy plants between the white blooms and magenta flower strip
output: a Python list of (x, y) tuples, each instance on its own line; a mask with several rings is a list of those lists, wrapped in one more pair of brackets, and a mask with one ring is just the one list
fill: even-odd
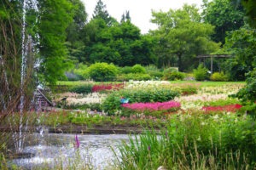
[(123, 89), (108, 94), (107, 98), (102, 103), (102, 108), (104, 111), (108, 112), (109, 115), (113, 115), (115, 112), (121, 110), (121, 97), (129, 99), (129, 103), (145, 103), (169, 101), (177, 96), (179, 96), (179, 92), (172, 91), (169, 88)]

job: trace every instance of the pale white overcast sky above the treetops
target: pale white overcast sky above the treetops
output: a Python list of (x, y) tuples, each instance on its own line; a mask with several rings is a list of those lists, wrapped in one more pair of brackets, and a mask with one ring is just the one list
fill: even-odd
[[(97, 0), (81, 0), (84, 3), (85, 11), (92, 17)], [(196, 4), (201, 8), (202, 0), (102, 0), (106, 5), (108, 14), (120, 21), (125, 11), (130, 11), (131, 23), (139, 27), (141, 33), (154, 30), (156, 25), (150, 23), (151, 10), (167, 12), (170, 8), (182, 8), (184, 3)]]

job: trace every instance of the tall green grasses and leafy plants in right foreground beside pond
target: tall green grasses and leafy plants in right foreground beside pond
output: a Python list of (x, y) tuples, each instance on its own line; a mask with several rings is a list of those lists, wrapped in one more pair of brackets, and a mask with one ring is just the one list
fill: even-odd
[(236, 115), (174, 115), (161, 134), (148, 130), (119, 146), (120, 169), (255, 167), (255, 122)]

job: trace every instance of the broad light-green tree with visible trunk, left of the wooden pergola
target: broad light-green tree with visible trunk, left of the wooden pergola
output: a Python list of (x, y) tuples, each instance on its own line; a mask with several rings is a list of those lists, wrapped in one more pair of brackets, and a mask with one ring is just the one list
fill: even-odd
[(170, 9), (166, 13), (153, 11), (151, 21), (159, 26), (158, 30), (151, 31), (151, 35), (159, 40), (160, 47), (156, 49), (166, 48), (166, 55), (176, 57), (179, 71), (191, 67), (196, 55), (208, 54), (219, 45), (211, 41), (213, 26), (201, 22), (198, 10), (195, 5), (185, 4), (181, 9)]

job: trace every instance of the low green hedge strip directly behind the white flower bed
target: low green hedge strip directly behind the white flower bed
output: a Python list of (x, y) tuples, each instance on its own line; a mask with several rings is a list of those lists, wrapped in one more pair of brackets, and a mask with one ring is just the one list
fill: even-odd
[(116, 77), (116, 80), (118, 82), (128, 82), (129, 80), (146, 81), (151, 79), (152, 77), (150, 77), (150, 75), (141, 73), (121, 74), (118, 77)]

